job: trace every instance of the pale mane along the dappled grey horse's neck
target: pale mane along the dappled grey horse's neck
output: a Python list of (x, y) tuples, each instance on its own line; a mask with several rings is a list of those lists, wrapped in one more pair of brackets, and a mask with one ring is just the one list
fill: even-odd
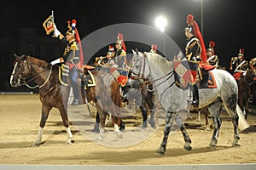
[(157, 67), (160, 68), (160, 70), (163, 71), (164, 73), (167, 73), (173, 70), (172, 61), (169, 61), (168, 59), (166, 59), (166, 57), (163, 57), (160, 54), (153, 54), (148, 52), (144, 52), (144, 54), (147, 56), (147, 58), (150, 61), (152, 61), (155, 65), (157, 65)]

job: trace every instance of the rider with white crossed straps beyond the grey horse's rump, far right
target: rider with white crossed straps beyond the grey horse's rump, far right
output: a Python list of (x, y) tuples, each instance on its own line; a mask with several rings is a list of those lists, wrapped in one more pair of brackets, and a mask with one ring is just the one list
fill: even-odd
[(236, 82), (240, 80), (241, 76), (245, 75), (245, 71), (248, 68), (248, 62), (245, 59), (244, 56), (244, 48), (240, 48), (239, 54), (237, 54), (237, 57), (232, 57), (230, 60), (230, 71), (233, 72), (233, 77), (235, 77)]

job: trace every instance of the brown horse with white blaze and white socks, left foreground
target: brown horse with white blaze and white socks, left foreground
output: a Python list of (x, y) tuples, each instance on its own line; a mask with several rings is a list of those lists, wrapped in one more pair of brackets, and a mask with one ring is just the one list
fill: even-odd
[[(17, 88), (26, 85), (32, 88), (28, 83), (34, 81), (37, 84), (34, 88), (39, 88), (42, 115), (38, 138), (35, 140), (34, 145), (42, 144), (44, 126), (49, 116), (49, 111), (53, 107), (60, 111), (63, 125), (67, 127), (67, 143), (73, 143), (73, 134), (71, 133), (67, 117), (67, 101), (70, 87), (62, 85), (59, 81), (60, 65), (50, 65), (44, 60), (28, 55), (17, 56), (15, 54), (15, 58), (14, 70), (10, 77), (11, 86)], [(86, 96), (88, 101), (97, 101), (96, 108), (100, 114), (102, 132), (104, 132), (104, 116), (106, 116), (106, 111), (111, 111), (114, 116), (119, 115), (119, 88), (116, 81), (109, 79), (108, 74), (93, 71), (93, 75), (95, 76), (96, 86), (87, 88)], [(108, 78), (108, 81), (106, 81), (106, 78)], [(84, 88), (81, 88), (81, 92), (84, 92)], [(84, 93), (82, 93), (81, 98), (83, 98), (82, 101), (85, 100)]]

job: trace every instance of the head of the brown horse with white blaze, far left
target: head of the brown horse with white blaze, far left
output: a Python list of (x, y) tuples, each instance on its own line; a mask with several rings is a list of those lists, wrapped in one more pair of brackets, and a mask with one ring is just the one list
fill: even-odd
[(10, 77), (10, 85), (12, 87), (19, 87), (23, 85), (26, 77), (31, 73), (30, 65), (26, 60), (26, 55), (15, 55), (14, 70)]

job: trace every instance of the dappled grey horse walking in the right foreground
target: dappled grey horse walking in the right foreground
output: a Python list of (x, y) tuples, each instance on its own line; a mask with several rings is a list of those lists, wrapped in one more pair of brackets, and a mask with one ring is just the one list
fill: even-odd
[[(161, 69), (160, 69), (161, 68)], [(188, 89), (177, 88), (174, 84), (173, 64), (159, 54), (134, 52), (132, 57), (132, 73), (141, 78), (148, 78), (154, 85), (158, 94), (158, 100), (163, 110), (166, 111), (166, 125), (164, 129), (164, 138), (157, 150), (159, 154), (165, 154), (167, 139), (172, 127), (172, 122), (176, 121), (177, 126), (183, 133), (185, 141), (184, 149), (191, 150), (191, 139), (183, 125), (181, 117), (177, 114), (179, 111), (188, 109), (187, 96)], [(165, 74), (168, 70), (169, 73)], [(233, 145), (239, 146), (238, 119), (236, 113), (236, 103), (238, 99), (238, 88), (236, 80), (229, 72), (214, 69), (212, 74), (217, 82), (217, 88), (199, 89), (199, 108), (206, 107), (212, 116), (214, 131), (210, 146), (216, 146), (218, 143), (218, 133), (221, 126), (220, 109), (224, 105), (228, 114), (232, 117), (234, 125)]]

